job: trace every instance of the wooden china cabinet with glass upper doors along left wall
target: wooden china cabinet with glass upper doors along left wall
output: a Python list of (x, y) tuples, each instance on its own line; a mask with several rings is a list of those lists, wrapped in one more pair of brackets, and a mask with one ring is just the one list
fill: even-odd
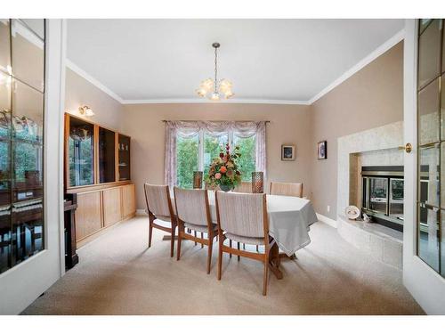
[(77, 248), (135, 216), (131, 138), (65, 114), (65, 192), (77, 194)]

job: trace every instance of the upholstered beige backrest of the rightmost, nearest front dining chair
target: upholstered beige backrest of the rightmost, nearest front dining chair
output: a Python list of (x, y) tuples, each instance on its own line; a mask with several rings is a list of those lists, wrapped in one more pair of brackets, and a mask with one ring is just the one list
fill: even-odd
[(264, 238), (268, 230), (265, 194), (216, 192), (218, 223), (225, 232)]

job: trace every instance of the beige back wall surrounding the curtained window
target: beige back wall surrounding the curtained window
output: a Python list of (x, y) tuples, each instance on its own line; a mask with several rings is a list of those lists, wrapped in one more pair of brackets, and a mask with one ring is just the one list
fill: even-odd
[[(171, 120), (270, 120), (266, 150), (270, 180), (305, 183), (311, 192), (311, 113), (309, 106), (274, 104), (134, 104), (125, 105), (123, 131), (132, 136), (132, 179), (137, 208), (145, 208), (142, 184), (164, 183), (165, 125)], [(296, 144), (295, 161), (281, 161), (283, 143)], [(306, 186), (307, 184), (307, 186)]]

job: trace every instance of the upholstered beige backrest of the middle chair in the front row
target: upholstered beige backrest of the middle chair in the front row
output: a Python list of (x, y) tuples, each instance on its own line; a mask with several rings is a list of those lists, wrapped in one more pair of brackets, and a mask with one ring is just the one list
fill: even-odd
[(208, 224), (207, 191), (203, 189), (181, 189), (174, 187), (176, 214), (184, 223)]

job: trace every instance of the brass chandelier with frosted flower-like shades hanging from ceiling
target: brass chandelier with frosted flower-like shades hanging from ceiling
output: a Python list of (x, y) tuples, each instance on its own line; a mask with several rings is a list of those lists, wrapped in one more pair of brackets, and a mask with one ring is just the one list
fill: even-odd
[(214, 80), (208, 78), (201, 81), (196, 93), (200, 97), (206, 97), (212, 101), (218, 101), (223, 96), (226, 99), (230, 99), (234, 94), (231, 91), (231, 82), (226, 79), (218, 81), (218, 48), (220, 44), (214, 42)]

